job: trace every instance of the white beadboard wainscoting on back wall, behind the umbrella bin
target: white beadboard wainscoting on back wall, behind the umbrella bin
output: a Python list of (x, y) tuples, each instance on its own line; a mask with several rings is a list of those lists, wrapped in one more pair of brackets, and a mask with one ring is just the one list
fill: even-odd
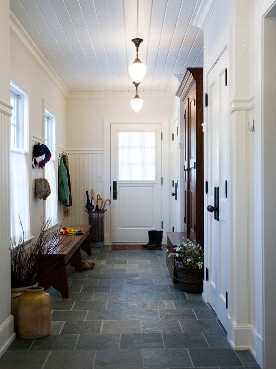
[(69, 153), (69, 170), (71, 178), (72, 203), (69, 217), (64, 218), (64, 224), (88, 224), (88, 214), (85, 212), (86, 194), (91, 189), (95, 196), (103, 196), (103, 150), (67, 150)]

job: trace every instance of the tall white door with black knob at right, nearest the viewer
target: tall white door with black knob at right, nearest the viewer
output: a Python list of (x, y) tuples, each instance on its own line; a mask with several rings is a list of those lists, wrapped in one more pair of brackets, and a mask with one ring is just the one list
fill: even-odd
[[(207, 75), (207, 239), (209, 302), (228, 331), (229, 309), (229, 92), (226, 85), (228, 54), (225, 51)], [(228, 83), (227, 83), (228, 84)], [(217, 199), (217, 200), (216, 200)], [(218, 206), (216, 206), (216, 203)], [(207, 209), (205, 209), (207, 211)]]

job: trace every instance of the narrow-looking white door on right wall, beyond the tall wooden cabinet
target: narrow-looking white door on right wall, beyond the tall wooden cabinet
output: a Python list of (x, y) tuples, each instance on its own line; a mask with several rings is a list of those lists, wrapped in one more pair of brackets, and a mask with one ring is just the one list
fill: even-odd
[(180, 231), (180, 191), (179, 191), (179, 128), (178, 118), (172, 124), (171, 132), (171, 228), (170, 232)]

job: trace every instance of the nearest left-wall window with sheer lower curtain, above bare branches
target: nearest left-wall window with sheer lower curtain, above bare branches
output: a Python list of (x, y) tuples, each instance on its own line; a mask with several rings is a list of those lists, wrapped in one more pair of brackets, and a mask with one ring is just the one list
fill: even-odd
[(11, 237), (30, 238), (30, 186), (28, 170), (28, 95), (11, 82)]

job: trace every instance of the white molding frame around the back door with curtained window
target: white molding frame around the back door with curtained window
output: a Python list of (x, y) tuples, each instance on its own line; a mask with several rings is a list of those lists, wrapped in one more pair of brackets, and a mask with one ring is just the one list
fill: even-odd
[[(103, 118), (103, 196), (109, 199), (110, 193), (110, 150), (111, 150), (111, 124), (161, 124), (163, 132), (162, 142), (162, 218), (163, 232), (169, 231), (169, 117), (122, 117)], [(112, 199), (111, 199), (112, 203)], [(111, 217), (106, 212), (104, 219), (104, 244), (109, 245), (111, 240)]]

